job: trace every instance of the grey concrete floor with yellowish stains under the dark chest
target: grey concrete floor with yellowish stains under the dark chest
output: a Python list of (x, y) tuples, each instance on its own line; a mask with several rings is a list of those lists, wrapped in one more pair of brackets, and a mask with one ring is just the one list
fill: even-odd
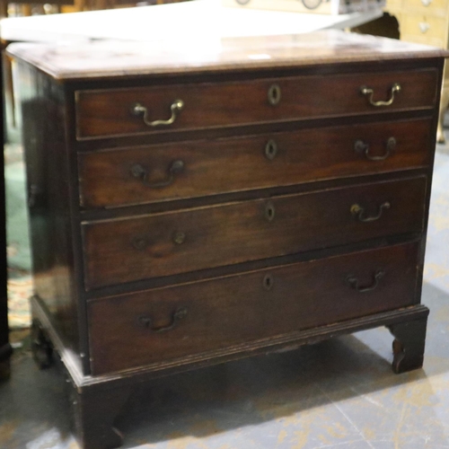
[[(118, 418), (125, 448), (449, 448), (449, 146), (438, 145), (422, 302), (424, 368), (395, 375), (392, 337), (367, 330), (284, 354), (167, 377)], [(75, 449), (64, 379), (27, 350), (0, 386), (0, 447)]]

